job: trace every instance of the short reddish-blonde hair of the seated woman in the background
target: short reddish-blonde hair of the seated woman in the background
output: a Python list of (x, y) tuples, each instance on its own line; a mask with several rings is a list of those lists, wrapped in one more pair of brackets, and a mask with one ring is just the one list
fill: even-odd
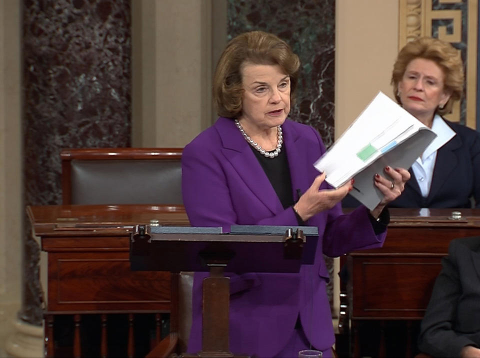
[(463, 63), (458, 51), (450, 43), (431, 37), (420, 37), (404, 45), (398, 53), (391, 74), (393, 94), (399, 104), (398, 82), (402, 79), (408, 63), (415, 58), (432, 60), (443, 71), (443, 89), (450, 93), (450, 98), (443, 108), (437, 108), (436, 112), (440, 115), (449, 113), (453, 102), (463, 95)]

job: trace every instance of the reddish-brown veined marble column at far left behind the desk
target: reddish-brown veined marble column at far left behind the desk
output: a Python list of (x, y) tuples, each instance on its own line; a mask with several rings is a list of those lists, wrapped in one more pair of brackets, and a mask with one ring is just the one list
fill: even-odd
[[(61, 148), (130, 145), (130, 37), (129, 0), (23, 1), (26, 205), (61, 202)], [(22, 318), (41, 323), (38, 246), (25, 250)]]

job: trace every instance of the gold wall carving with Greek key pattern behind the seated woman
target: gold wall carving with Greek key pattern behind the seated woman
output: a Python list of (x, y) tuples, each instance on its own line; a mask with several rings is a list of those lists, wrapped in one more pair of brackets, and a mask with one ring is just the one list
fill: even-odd
[(450, 42), (465, 66), (465, 95), (446, 117), (476, 127), (478, 0), (400, 0), (398, 46), (421, 36)]

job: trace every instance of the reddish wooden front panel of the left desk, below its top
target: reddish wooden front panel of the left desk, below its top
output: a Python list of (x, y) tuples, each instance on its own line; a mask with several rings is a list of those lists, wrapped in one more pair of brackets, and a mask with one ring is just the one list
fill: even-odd
[(168, 311), (170, 273), (130, 271), (128, 252), (49, 252), (49, 311)]

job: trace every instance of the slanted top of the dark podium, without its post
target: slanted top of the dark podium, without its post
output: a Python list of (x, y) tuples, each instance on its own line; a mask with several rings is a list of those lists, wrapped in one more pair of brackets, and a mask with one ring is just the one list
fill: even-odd
[[(132, 270), (298, 272), (312, 264), (315, 226), (232, 225), (221, 227), (136, 225), (130, 240)], [(248, 263), (247, 263), (248, 262)]]

